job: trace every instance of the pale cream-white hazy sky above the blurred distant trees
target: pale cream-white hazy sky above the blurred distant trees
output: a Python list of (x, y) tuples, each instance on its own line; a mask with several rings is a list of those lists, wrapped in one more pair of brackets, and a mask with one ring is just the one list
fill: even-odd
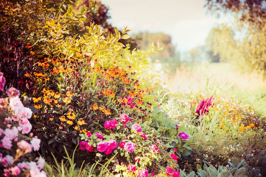
[(216, 18), (204, 8), (204, 0), (101, 0), (109, 7), (109, 23), (132, 33), (164, 32), (172, 36), (172, 43), (181, 52), (203, 45), (212, 27), (229, 22), (230, 18)]

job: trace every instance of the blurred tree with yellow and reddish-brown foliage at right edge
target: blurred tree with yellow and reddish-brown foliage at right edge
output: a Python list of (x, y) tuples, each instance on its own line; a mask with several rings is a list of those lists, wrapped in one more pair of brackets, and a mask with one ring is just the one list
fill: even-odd
[(206, 0), (212, 12), (235, 14), (240, 30), (246, 37), (235, 46), (227, 46), (225, 52), (233, 53), (238, 64), (246, 63), (266, 76), (266, 1), (265, 0)]

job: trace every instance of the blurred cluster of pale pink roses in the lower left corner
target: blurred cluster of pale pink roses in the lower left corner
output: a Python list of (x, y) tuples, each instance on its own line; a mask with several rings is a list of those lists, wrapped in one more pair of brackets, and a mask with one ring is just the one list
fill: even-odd
[[(0, 72), (0, 91), (3, 91), (5, 78)], [(29, 173), (31, 176), (47, 176), (41, 169), (44, 167), (45, 160), (42, 157), (31, 162), (19, 162), (20, 157), (38, 151), (40, 149), (41, 140), (30, 134), (31, 141), (19, 141), (19, 134), (28, 134), (32, 125), (29, 119), (32, 116), (31, 109), (24, 107), (19, 99), (20, 92), (11, 87), (7, 90), (7, 98), (0, 99), (0, 112), (3, 113), (1, 118), (2, 128), (0, 128), (0, 149), (7, 149), (6, 153), (0, 153), (0, 168), (3, 168), (4, 176), (22, 175), (22, 171)], [(8, 116), (7, 116), (8, 115)], [(15, 154), (14, 154), (15, 152)], [(25, 156), (24, 156), (25, 157)]]

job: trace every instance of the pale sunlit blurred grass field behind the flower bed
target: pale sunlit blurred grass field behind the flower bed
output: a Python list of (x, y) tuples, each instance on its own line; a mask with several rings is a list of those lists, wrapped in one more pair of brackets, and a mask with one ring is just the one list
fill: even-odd
[(258, 72), (241, 73), (229, 63), (182, 65), (165, 74), (168, 89), (175, 93), (202, 91), (215, 86), (243, 104), (250, 104), (257, 115), (266, 118), (266, 80)]

